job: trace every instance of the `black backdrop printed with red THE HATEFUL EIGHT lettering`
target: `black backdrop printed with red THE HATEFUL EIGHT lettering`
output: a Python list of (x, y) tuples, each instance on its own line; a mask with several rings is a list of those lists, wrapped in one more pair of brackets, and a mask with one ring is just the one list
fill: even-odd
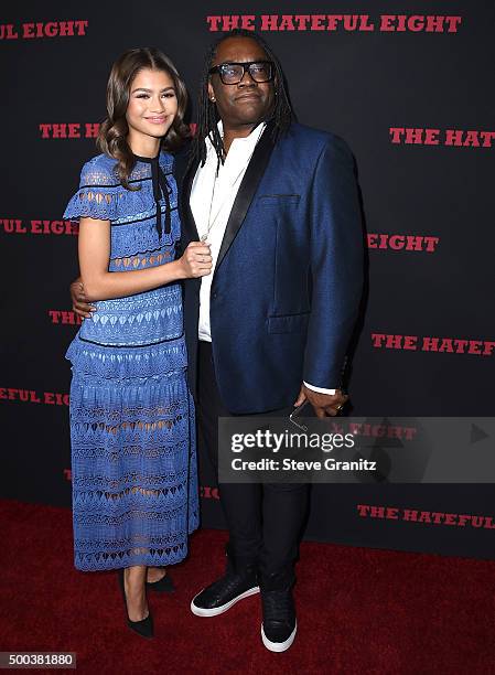
[[(342, 136), (357, 161), (368, 283), (353, 416), (384, 419), (370, 435), (403, 419), (395, 435), (407, 443), (410, 417), (494, 415), (493, 2), (4, 2), (2, 497), (71, 504), (64, 353), (77, 331), (77, 227), (62, 214), (97, 154), (111, 63), (132, 46), (162, 49), (187, 84), (194, 124), (208, 44), (233, 28), (260, 32), (299, 120)], [(473, 461), (489, 440), (476, 427)], [(201, 483), (203, 525), (222, 527), (203, 462)], [(494, 485), (386, 475), (316, 485), (306, 536), (493, 558)]]

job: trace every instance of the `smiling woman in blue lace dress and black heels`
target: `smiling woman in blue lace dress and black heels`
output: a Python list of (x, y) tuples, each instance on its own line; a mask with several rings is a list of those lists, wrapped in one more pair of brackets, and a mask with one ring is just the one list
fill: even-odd
[[(171, 61), (136, 49), (114, 64), (99, 154), (65, 218), (97, 311), (72, 342), (75, 566), (119, 570), (128, 625), (153, 634), (146, 589), (186, 555), (197, 527), (194, 409), (185, 381), (180, 279), (211, 272), (209, 248), (180, 238), (173, 158), (187, 137)], [(154, 585), (153, 585), (154, 582)]]

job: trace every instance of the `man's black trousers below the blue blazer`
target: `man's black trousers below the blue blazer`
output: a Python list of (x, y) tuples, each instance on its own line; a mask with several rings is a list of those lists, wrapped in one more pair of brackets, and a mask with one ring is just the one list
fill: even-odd
[[(206, 451), (217, 473), (218, 417), (232, 414), (220, 400), (208, 342), (200, 342), (197, 399), (200, 451)], [(261, 415), (288, 417), (292, 409)], [(235, 565), (257, 565), (266, 583), (273, 587), (291, 582), (308, 511), (308, 485), (220, 483), (219, 495)]]

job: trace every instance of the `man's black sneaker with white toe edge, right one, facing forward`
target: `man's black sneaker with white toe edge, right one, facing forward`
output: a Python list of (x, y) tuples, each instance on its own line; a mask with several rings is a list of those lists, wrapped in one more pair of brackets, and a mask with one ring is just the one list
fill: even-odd
[(261, 640), (270, 652), (284, 652), (295, 639), (298, 622), (291, 587), (282, 590), (261, 588), (263, 622)]

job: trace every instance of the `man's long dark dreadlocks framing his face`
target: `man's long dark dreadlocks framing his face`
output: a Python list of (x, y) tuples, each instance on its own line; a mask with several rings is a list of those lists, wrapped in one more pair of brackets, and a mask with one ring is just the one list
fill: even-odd
[(213, 42), (209, 46), (209, 50), (207, 51), (205, 56), (203, 74), (200, 84), (200, 95), (197, 99), (196, 133), (194, 136), (191, 148), (191, 163), (198, 160), (202, 167), (206, 161), (205, 139), (208, 136), (213, 143), (213, 147), (215, 148), (216, 154), (218, 157), (218, 162), (224, 163), (225, 161), (224, 141), (222, 140), (222, 136), (219, 135), (217, 128), (219, 117), (215, 104), (209, 100), (208, 97), (208, 82), (211, 77), (209, 68), (212, 67), (218, 45), (224, 42), (224, 40), (228, 40), (229, 38), (249, 38), (250, 40), (255, 40), (265, 51), (268, 56), (268, 60), (273, 63), (275, 105), (269, 118), (265, 120), (273, 121), (273, 128), (271, 131), (273, 142), (279, 136), (283, 135), (289, 129), (289, 126), (292, 119), (294, 118), (292, 106), (289, 100), (289, 94), (287, 92), (287, 84), (282, 72), (282, 66), (280, 65), (280, 62), (277, 56), (267, 45), (265, 40), (260, 38), (260, 35), (258, 35), (256, 32), (247, 31), (245, 29), (234, 29), (226, 35), (222, 35), (222, 38), (215, 40), (215, 42)]

